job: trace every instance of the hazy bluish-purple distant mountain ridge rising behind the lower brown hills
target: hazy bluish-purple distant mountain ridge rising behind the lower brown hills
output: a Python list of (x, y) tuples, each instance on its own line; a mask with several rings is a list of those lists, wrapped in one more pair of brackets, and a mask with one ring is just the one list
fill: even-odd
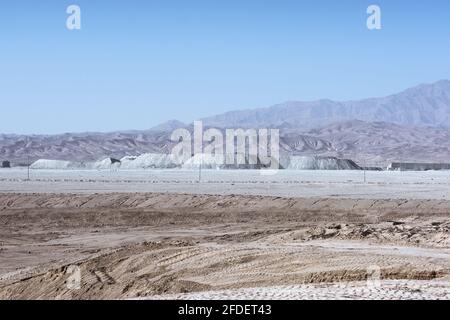
[(450, 126), (450, 81), (422, 84), (383, 98), (337, 102), (286, 102), (269, 108), (230, 111), (202, 119), (218, 128), (308, 129), (349, 120), (408, 126)]

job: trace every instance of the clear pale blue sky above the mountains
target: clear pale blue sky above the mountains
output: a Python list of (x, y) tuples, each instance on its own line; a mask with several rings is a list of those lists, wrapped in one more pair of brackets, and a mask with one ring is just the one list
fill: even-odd
[(1, 133), (147, 129), (450, 79), (450, 1), (2, 1), (0, 58)]

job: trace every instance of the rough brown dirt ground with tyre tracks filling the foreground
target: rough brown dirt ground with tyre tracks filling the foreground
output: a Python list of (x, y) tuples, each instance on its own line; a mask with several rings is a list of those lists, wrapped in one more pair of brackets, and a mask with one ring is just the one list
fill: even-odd
[(450, 201), (0, 194), (1, 299), (450, 299)]

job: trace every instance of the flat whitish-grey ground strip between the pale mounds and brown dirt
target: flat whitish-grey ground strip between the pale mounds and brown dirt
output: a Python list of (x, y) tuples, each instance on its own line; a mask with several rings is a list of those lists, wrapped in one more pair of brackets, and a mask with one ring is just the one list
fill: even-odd
[(0, 192), (173, 192), (281, 197), (450, 200), (450, 171), (0, 169)]

